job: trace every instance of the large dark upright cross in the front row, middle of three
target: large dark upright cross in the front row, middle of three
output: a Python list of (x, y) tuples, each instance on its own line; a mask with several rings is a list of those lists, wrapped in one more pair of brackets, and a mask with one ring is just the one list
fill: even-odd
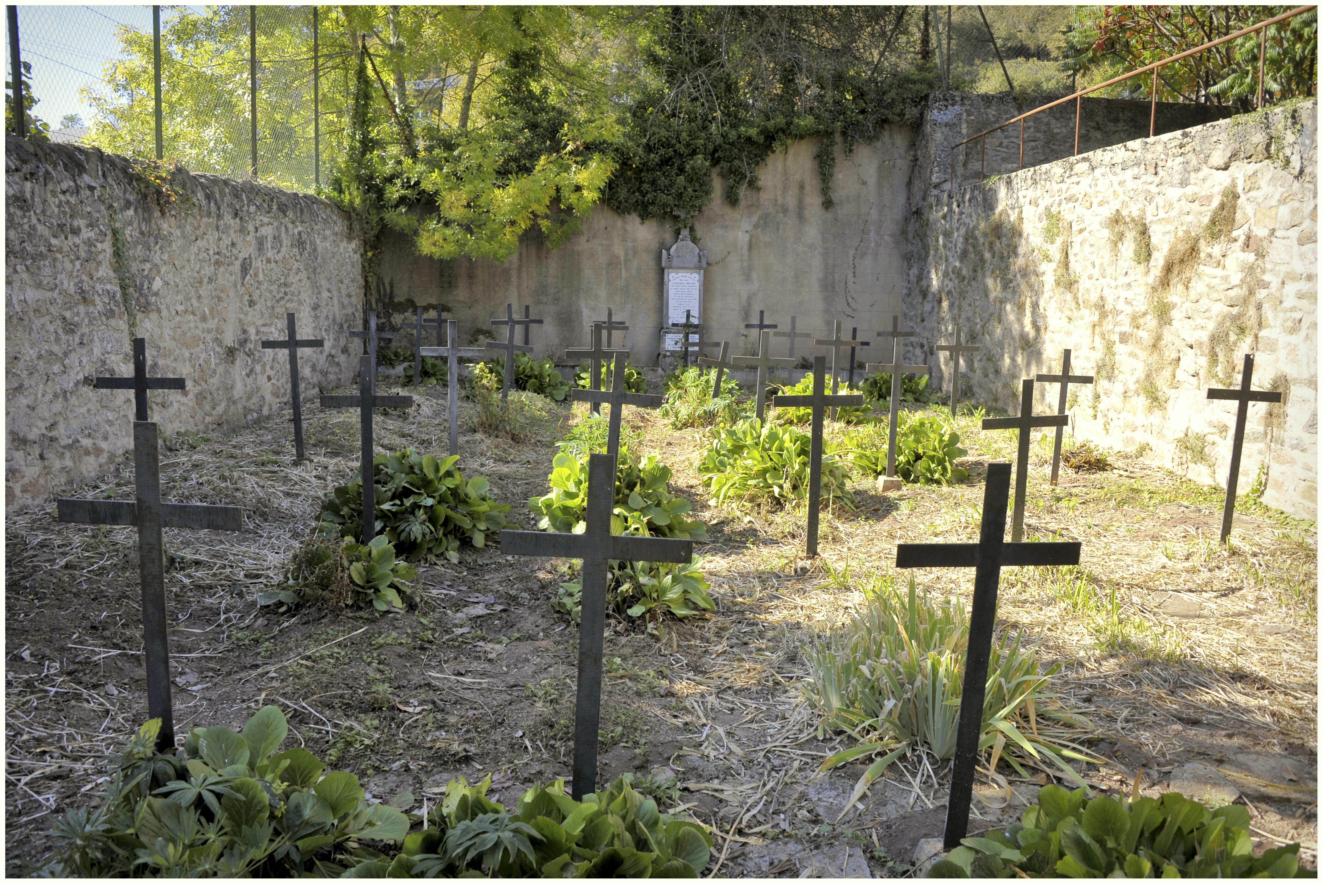
[(692, 540), (611, 533), (615, 507), (615, 457), (589, 455), (587, 515), (583, 533), (501, 531), (500, 551), (512, 556), (582, 558), (578, 691), (574, 700), (574, 775), (572, 794), (583, 798), (597, 787), (598, 716), (602, 703), (602, 642), (606, 629), (607, 564), (668, 561), (688, 564)]

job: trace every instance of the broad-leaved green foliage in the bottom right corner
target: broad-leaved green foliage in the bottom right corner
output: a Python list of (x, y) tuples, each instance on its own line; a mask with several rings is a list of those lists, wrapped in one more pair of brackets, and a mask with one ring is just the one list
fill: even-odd
[(1019, 823), (960, 839), (929, 877), (1314, 877), (1299, 850), (1254, 856), (1240, 805), (1211, 811), (1175, 791), (1088, 801), (1084, 789), (1049, 785)]

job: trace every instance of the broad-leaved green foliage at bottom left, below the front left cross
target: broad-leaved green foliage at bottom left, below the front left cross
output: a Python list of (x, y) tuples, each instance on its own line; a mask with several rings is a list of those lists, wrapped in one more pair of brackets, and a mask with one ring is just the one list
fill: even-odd
[[(152, 719), (111, 757), (94, 810), (56, 819), (57, 876), (339, 877), (405, 840), (409, 818), (369, 805), (353, 774), (323, 775), (306, 749), (275, 753), (288, 727), (261, 708), (242, 732), (194, 728), (175, 754), (153, 749)], [(274, 754), (273, 754), (274, 753)]]

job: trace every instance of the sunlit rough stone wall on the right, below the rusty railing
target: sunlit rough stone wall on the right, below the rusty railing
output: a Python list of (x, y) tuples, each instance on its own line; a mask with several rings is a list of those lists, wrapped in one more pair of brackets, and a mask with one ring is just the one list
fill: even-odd
[[(1072, 348), (1074, 434), (1225, 486), (1234, 402), (1256, 353), (1240, 490), (1318, 511), (1318, 103), (1263, 111), (934, 196), (916, 180), (905, 308), (933, 347), (955, 323), (982, 352), (962, 390), (1017, 413), (1021, 377), (1057, 373)], [(1054, 410), (1040, 384), (1035, 409)], [(1262, 472), (1261, 472), (1262, 471)]]

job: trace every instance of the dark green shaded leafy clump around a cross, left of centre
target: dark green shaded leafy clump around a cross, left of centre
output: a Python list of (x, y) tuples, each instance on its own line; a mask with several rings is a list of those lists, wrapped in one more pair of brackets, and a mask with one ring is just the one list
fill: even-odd
[[(373, 458), (376, 532), (410, 561), (445, 556), (459, 561), (459, 543), (484, 547), (487, 535), (505, 527), (509, 504), (487, 494), (487, 479), (464, 479), (456, 455), (435, 458), (413, 449)], [(327, 537), (363, 536), (363, 480), (355, 478), (327, 495), (318, 516)]]

